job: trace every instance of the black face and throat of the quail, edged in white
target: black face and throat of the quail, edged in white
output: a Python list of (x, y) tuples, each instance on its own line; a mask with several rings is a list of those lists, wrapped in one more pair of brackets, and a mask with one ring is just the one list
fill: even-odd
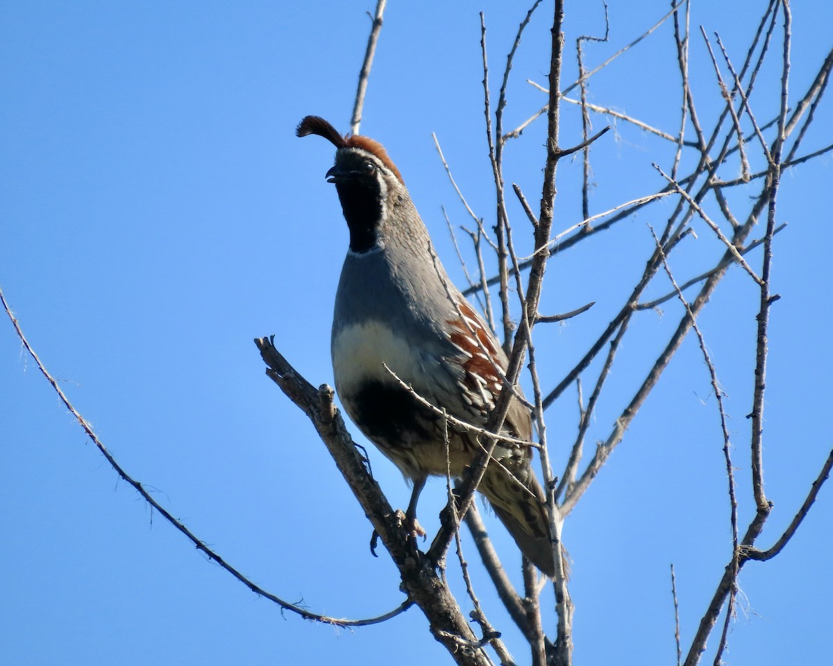
[(382, 186), (377, 169), (375, 162), (349, 152), (339, 155), (336, 166), (327, 171), (328, 180), (336, 184), (354, 252), (367, 252), (376, 245), (382, 221)]

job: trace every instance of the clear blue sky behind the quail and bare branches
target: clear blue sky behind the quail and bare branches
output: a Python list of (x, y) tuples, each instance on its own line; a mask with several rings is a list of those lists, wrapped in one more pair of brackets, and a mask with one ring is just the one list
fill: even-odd
[[(491, 224), (478, 12), (486, 13), (496, 91), (526, 8), (418, 5), (387, 9), (362, 132), (387, 146), (462, 284), (441, 206), (456, 225), (467, 222), (466, 213), (431, 132), (469, 203)], [(706, 118), (720, 97), (697, 27), (721, 32), (739, 63), (757, 5), (692, 8), (691, 80)], [(308, 380), (332, 383), (332, 298), (347, 230), (324, 181), (332, 146), (301, 142), (293, 131), (308, 113), (347, 131), (372, 9), (371, 2), (0, 7), (0, 285), (23, 330), (108, 449), (172, 514), (263, 588), (352, 618), (401, 603), (396, 571), (385, 554), (369, 554), (370, 525), (306, 418), (263, 374), (252, 338), (274, 334)], [(588, 47), (588, 62), (602, 62), (666, 11), (666, 2), (611, 2), (611, 41)], [(830, 48), (829, 22), (819, 20), (829, 10), (796, 3), (793, 11), (797, 96)], [(525, 81), (546, 83), (550, 12), (541, 7), (516, 57), (506, 112), (513, 127), (544, 103)], [(565, 29), (570, 49), (578, 35), (603, 32), (601, 3), (568, 4)], [(565, 82), (575, 78), (570, 52)], [(591, 102), (676, 132), (674, 58), (666, 24), (594, 77)], [(759, 119), (775, 112), (773, 77), (774, 67), (762, 74)], [(828, 102), (806, 152), (831, 142)], [(597, 128), (606, 122), (594, 119)], [(540, 196), (544, 125), (532, 124), (507, 149), (506, 180), (530, 201)], [(658, 190), (651, 162), (667, 171), (673, 157), (672, 147), (644, 132), (621, 123), (615, 129), (594, 148), (591, 213)], [(561, 136), (564, 145), (580, 140), (575, 108), (565, 109)], [(721, 175), (736, 176), (731, 168)], [(558, 177), (561, 230), (581, 220), (581, 162), (562, 162)], [(762, 546), (789, 523), (831, 448), (826, 285), (833, 232), (823, 203), (830, 182), (830, 157), (822, 157), (786, 173), (781, 189), (779, 220), (789, 226), (775, 248), (773, 291), (782, 298), (772, 314), (765, 424), (767, 491), (776, 509)], [(731, 197), (739, 215), (747, 194)], [(561, 379), (621, 306), (650, 253), (647, 225), (661, 228), (671, 208), (666, 202), (641, 212), (551, 263), (546, 313), (596, 306), (542, 335), (545, 384)], [(511, 214), (520, 227), (520, 209)], [(671, 256), (679, 279), (710, 267), (720, 252), (706, 226), (694, 227), (696, 238)], [(760, 261), (760, 253), (751, 255), (753, 266)], [(658, 279), (650, 295), (667, 289)], [(744, 416), (755, 299), (735, 268), (701, 317), (728, 394), (741, 524), (752, 513)], [(635, 319), (588, 442), (609, 434), (680, 316), (672, 301), (663, 313)], [(117, 479), (8, 323), (0, 325), (0, 364), (3, 664), (447, 660), (417, 609), (354, 631), (282, 616)], [(568, 519), (576, 664), (673, 663), (671, 563), (684, 647), (691, 640), (731, 553), (714, 401), (701, 353), (686, 340)], [(557, 468), (576, 429), (575, 395), (565, 394), (547, 417)], [(407, 504), (401, 475), (371, 455), (392, 504)], [(441, 482), (429, 485), (423, 524), (436, 519), (443, 498)], [(831, 489), (822, 491), (776, 560), (744, 569), (727, 662), (813, 663), (829, 654), (831, 498)], [(494, 538), (514, 571), (510, 539), (499, 526)], [(468, 552), (476, 558), (471, 544)], [(476, 584), (490, 602), (479, 572)], [(494, 611), (492, 622), (524, 662), (506, 619)]]

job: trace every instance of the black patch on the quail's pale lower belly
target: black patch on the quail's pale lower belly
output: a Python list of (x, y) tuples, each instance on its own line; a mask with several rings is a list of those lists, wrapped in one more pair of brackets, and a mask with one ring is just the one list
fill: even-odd
[(354, 405), (357, 423), (377, 443), (396, 448), (436, 438), (439, 417), (402, 386), (368, 381), (358, 390)]

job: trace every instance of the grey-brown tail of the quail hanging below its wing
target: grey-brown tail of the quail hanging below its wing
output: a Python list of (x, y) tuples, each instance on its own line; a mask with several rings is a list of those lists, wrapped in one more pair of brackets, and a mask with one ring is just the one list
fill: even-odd
[(554, 578), (556, 562), (552, 556), (550, 519), (541, 485), (528, 467), (523, 470), (528, 474), (521, 481), (496, 462), (493, 460), (486, 467), (478, 490), (489, 500), (521, 553), (544, 574)]

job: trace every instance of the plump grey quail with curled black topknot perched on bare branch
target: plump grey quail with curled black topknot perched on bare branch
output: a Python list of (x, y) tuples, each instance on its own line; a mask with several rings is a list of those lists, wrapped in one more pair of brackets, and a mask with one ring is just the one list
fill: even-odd
[[(382, 144), (342, 137), (318, 116), (304, 117), (296, 135), (324, 137), (337, 149), (326, 178), (336, 186), (349, 231), (332, 321), (337, 394), (362, 434), (412, 482), (406, 517), (417, 526), (427, 478), (449, 471), (460, 478), (482, 450), (484, 438), (461, 422), (486, 426), (508, 359), (449, 279)], [(546, 500), (531, 469), (531, 412), (520, 387), (514, 391), (500, 432), (505, 439), (497, 441), (477, 490), (521, 553), (552, 578)], [(443, 413), (457, 423), (446, 425)]]

